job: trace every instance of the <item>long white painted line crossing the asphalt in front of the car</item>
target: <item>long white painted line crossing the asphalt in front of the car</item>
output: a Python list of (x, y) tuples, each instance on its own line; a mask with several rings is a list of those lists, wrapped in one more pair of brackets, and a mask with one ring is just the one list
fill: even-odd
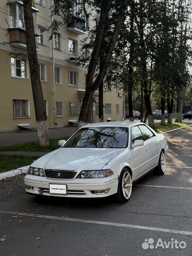
[(175, 233), (175, 234), (182, 234), (182, 235), (192, 236), (192, 232), (190, 232), (190, 231), (176, 230), (176, 229), (161, 229), (161, 228), (154, 228), (154, 227), (147, 227), (147, 226), (130, 225), (130, 224), (106, 222), (106, 221), (98, 221), (98, 220), (64, 218), (64, 217), (40, 215), (40, 214), (33, 214), (33, 213), (24, 213), (24, 212), (17, 212), (17, 211), (0, 210), (0, 213), (17, 214), (19, 216), (29, 216), (29, 217), (37, 217), (37, 218), (44, 218), (44, 219), (58, 219), (58, 220), (64, 220), (64, 221), (83, 222), (83, 223), (123, 227), (123, 228), (130, 228), (130, 229), (146, 229), (146, 230), (152, 230), (152, 231), (159, 231), (159, 232), (167, 232), (167, 233)]

